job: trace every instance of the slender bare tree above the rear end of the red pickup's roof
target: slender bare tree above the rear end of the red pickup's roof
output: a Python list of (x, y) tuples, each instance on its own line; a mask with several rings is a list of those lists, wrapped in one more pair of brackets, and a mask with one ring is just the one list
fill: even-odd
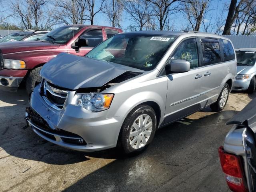
[(112, 27), (121, 28), (123, 6), (120, 0), (107, 0), (105, 14)]

